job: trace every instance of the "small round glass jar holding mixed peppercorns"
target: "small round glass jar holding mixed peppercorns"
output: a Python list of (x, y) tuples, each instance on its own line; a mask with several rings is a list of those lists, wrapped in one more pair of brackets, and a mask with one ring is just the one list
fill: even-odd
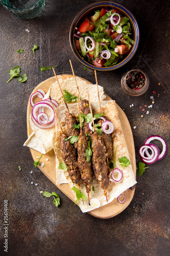
[(148, 90), (149, 77), (142, 70), (132, 69), (125, 73), (121, 79), (121, 86), (127, 94), (140, 96)]

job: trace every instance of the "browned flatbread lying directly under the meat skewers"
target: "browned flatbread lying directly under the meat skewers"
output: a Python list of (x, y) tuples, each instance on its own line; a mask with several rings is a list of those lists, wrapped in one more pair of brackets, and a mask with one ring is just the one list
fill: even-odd
[[(98, 103), (91, 103), (91, 106), (92, 106), (93, 114), (100, 113), (100, 110), (98, 108), (98, 106), (99, 106)], [(106, 119), (110, 120), (114, 124), (114, 132), (112, 134), (112, 148), (113, 148), (113, 159), (112, 160), (114, 161), (115, 148), (116, 148), (116, 161), (115, 161), (115, 168), (116, 168), (119, 166), (118, 158), (126, 156), (128, 159), (130, 159), (128, 147), (126, 144), (125, 136), (124, 136), (122, 125), (121, 125), (121, 122), (119, 119), (115, 101), (114, 100), (101, 101), (101, 106), (102, 106), (102, 113), (105, 113)], [(76, 113), (76, 111), (78, 111), (77, 103), (72, 104), (70, 113), (72, 113), (72, 112)], [(62, 118), (61, 118), (61, 121), (63, 121)], [(64, 124), (64, 122), (63, 122), (62, 129), (63, 129), (64, 133), (67, 132), (66, 124)], [(57, 161), (56, 161), (57, 184), (68, 183), (70, 188), (72, 188), (75, 185), (71, 182), (71, 180), (68, 176), (68, 172), (66, 172), (65, 170), (61, 170), (58, 167), (58, 164), (60, 162), (63, 162), (63, 158), (61, 156), (61, 150), (60, 150), (60, 135), (61, 135), (61, 131), (59, 130), (59, 126), (57, 126), (57, 130), (54, 133), (53, 141), (52, 141), (53, 147), (54, 147), (54, 152), (55, 152), (56, 158), (57, 158)], [(128, 167), (119, 166), (119, 168), (123, 170), (123, 179), (120, 180), (119, 182), (114, 182), (114, 183), (111, 182), (109, 184), (109, 187), (107, 189), (108, 203), (112, 202), (114, 200), (114, 198), (117, 198), (126, 189), (128, 189), (129, 187), (136, 184), (136, 180), (134, 177), (134, 173), (133, 173), (131, 164)], [(65, 181), (64, 181), (64, 177), (61, 173), (64, 174)], [(94, 187), (95, 193), (93, 191), (91, 191), (90, 198), (97, 198), (101, 203), (100, 206), (106, 205), (107, 201), (106, 201), (106, 197), (104, 196), (104, 190), (98, 185), (98, 182), (95, 180), (95, 178), (93, 179), (92, 185)], [(87, 212), (87, 211), (94, 209), (91, 205), (89, 206), (89, 204), (88, 204), (88, 196), (86, 193), (86, 188), (83, 185), (83, 183), (80, 184), (80, 189), (83, 192), (83, 194), (86, 196), (86, 200), (84, 201), (84, 204), (80, 200), (77, 202), (77, 204), (81, 208), (82, 212)], [(71, 190), (71, 193), (75, 194), (75, 192), (72, 190)], [(76, 201), (76, 194), (75, 194), (75, 201)]]

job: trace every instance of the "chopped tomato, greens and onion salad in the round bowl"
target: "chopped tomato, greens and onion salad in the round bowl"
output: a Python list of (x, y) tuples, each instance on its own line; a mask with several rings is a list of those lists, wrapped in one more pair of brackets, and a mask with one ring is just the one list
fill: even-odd
[(81, 57), (96, 67), (114, 66), (134, 44), (129, 18), (117, 10), (96, 10), (85, 17), (75, 33)]

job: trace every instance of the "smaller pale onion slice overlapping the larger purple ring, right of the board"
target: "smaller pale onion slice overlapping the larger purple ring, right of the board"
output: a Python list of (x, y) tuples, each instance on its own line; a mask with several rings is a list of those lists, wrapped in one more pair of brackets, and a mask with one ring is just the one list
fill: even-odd
[[(144, 156), (145, 151), (151, 150), (152, 154)], [(159, 148), (154, 144), (145, 144), (139, 148), (139, 155), (143, 163), (152, 164), (159, 158)]]

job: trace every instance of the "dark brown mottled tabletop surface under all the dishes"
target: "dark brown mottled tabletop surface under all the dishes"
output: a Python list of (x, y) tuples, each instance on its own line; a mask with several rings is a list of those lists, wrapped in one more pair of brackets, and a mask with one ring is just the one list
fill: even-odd
[[(98, 72), (99, 84), (124, 109), (129, 119), (136, 162), (139, 161), (139, 146), (148, 136), (160, 135), (168, 146), (163, 160), (150, 165), (141, 177), (137, 174), (134, 198), (121, 214), (106, 220), (83, 214), (34, 167), (29, 148), (22, 146), (27, 139), (26, 114), (30, 94), (37, 84), (53, 76), (51, 70), (41, 72), (40, 66), (57, 65), (57, 74), (72, 74), (71, 59), (75, 74), (95, 83), (93, 71), (84, 70), (69, 46), (72, 20), (78, 11), (92, 2), (46, 1), (42, 15), (32, 20), (21, 20), (0, 4), (0, 255), (169, 255), (168, 1), (116, 1), (137, 18), (139, 47), (124, 67)], [(35, 55), (32, 52), (34, 44), (39, 46)], [(17, 50), (21, 48), (24, 52), (18, 54)], [(28, 74), (27, 82), (13, 79), (6, 83), (9, 69), (15, 66), (21, 67), (22, 75)], [(150, 87), (142, 96), (132, 97), (123, 92), (120, 79), (124, 72), (136, 66), (148, 74)], [(140, 106), (152, 104), (150, 96), (154, 96), (155, 104), (146, 115)], [(132, 103), (134, 106), (130, 108)], [(133, 126), (137, 126), (135, 130)], [(20, 172), (18, 165), (22, 168)], [(30, 174), (31, 170), (33, 174)], [(52, 199), (44, 198), (41, 190), (56, 191), (61, 198), (60, 206), (57, 208)], [(6, 199), (9, 208), (8, 253), (3, 248)]]

